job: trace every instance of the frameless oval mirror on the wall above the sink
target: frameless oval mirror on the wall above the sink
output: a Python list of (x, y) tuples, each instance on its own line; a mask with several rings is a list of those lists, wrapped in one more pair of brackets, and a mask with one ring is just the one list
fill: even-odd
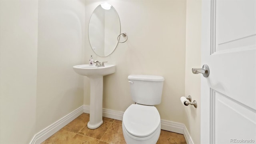
[(92, 50), (98, 56), (114, 52), (120, 34), (120, 20), (115, 8), (108, 3), (100, 4), (92, 12), (88, 35)]

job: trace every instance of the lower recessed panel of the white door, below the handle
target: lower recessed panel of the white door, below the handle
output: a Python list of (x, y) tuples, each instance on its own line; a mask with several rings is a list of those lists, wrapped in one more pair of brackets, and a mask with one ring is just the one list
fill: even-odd
[[(211, 89), (212, 138), (216, 144), (251, 140), (256, 136), (255, 110)], [(239, 122), (239, 123), (238, 123)], [(252, 129), (251, 132), (246, 131)], [(253, 139), (254, 140), (254, 139)]]

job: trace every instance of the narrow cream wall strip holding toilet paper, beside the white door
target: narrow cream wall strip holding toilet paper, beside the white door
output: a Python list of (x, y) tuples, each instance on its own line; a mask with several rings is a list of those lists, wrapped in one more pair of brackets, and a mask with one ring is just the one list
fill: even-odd
[(202, 68), (201, 64), (201, 0), (187, 0), (186, 14), (186, 71), (185, 95), (191, 95), (196, 100), (197, 108), (184, 107), (186, 128), (194, 144), (200, 144), (200, 77), (202, 74), (193, 74), (192, 68)]

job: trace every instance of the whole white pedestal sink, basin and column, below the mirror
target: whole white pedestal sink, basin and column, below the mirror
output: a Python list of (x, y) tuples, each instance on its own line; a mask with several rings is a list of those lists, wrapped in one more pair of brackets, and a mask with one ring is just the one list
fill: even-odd
[(105, 64), (105, 66), (90, 66), (82, 64), (73, 66), (74, 71), (82, 76), (90, 78), (90, 121), (87, 127), (98, 128), (102, 123), (102, 95), (103, 76), (116, 72), (116, 66)]

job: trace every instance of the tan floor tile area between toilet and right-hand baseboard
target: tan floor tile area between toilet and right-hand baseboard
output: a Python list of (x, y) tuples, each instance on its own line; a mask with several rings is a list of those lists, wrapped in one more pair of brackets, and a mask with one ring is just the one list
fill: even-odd
[(186, 144), (183, 134), (161, 130), (160, 137), (156, 144)]

